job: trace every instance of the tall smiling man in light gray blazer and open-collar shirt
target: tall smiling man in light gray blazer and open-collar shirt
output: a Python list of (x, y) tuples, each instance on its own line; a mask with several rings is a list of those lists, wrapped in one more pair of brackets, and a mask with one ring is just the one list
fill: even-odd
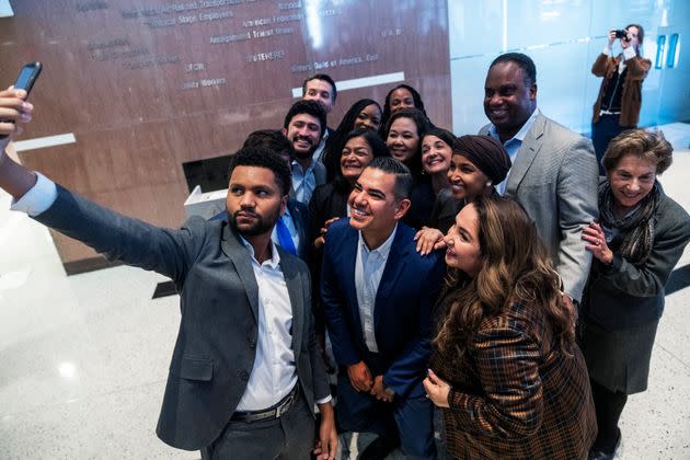
[(537, 108), (537, 70), (526, 55), (508, 53), (492, 62), (484, 84), (481, 135), (498, 139), (513, 169), (498, 185), (534, 220), (565, 292), (582, 298), (591, 255), (582, 230), (598, 217), (598, 168), (589, 139), (543, 116)]

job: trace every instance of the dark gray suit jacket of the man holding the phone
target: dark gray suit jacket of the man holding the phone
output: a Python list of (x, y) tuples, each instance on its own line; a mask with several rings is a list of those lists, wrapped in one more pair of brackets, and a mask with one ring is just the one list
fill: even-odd
[[(58, 186), (55, 204), (36, 220), (80, 240), (108, 260), (173, 279), (182, 320), (158, 422), (158, 436), (187, 450), (222, 432), (254, 365), (258, 287), (248, 250), (222, 220), (189, 218), (180, 230), (120, 216)], [(281, 251), (292, 307), (292, 350), (309, 407), (330, 394), (317, 347), (307, 265)]]

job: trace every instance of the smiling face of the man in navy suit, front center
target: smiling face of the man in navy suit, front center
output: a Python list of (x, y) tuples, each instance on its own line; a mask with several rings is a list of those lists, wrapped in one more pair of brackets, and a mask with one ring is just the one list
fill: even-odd
[(395, 222), (410, 206), (409, 199), (395, 199), (395, 175), (376, 168), (366, 168), (355, 182), (347, 200), (349, 225), (360, 230), (367, 241), (384, 241)]

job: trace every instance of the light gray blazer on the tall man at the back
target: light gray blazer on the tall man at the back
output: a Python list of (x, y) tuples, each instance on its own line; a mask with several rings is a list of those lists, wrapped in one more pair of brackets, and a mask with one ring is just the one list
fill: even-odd
[[(488, 134), (484, 126), (481, 135)], [(582, 230), (599, 216), (599, 169), (589, 139), (541, 113), (513, 162), (505, 196), (519, 202), (534, 220), (564, 289), (579, 300), (591, 254)]]

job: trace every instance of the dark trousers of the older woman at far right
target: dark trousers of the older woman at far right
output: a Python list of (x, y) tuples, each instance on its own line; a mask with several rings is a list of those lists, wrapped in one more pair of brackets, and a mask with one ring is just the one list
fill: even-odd
[(589, 380), (591, 396), (597, 412), (597, 426), (599, 433), (591, 450), (602, 450), (612, 453), (619, 437), (618, 421), (621, 417), (628, 394), (620, 391), (611, 391), (608, 388)]

